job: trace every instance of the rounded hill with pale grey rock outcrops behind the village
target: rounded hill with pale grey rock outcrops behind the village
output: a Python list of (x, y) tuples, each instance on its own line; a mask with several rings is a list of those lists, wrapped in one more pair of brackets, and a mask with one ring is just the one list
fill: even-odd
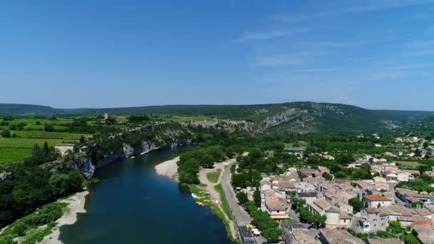
[(379, 131), (397, 128), (394, 113), (332, 103), (281, 103), (252, 113), (255, 131), (315, 133), (318, 131)]

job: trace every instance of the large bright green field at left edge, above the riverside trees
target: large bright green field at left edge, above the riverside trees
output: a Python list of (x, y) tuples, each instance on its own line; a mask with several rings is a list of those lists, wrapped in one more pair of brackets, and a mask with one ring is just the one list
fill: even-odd
[(76, 140), (47, 138), (0, 138), (0, 163), (19, 161), (31, 156), (31, 149), (36, 143), (44, 146), (44, 142), (53, 148), (57, 143), (75, 142)]

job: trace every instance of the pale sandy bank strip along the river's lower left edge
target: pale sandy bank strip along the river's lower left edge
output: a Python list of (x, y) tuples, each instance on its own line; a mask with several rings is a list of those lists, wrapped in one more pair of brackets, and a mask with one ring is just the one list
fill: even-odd
[(59, 201), (61, 203), (69, 203), (68, 210), (66, 210), (66, 213), (61, 218), (56, 220), (56, 228), (53, 230), (53, 233), (46, 235), (41, 243), (61, 243), (59, 240), (59, 228), (61, 228), (62, 225), (72, 225), (76, 223), (77, 213), (86, 213), (86, 209), (84, 209), (84, 203), (86, 203), (87, 194), (89, 194), (89, 191), (85, 190), (74, 194), (70, 198)]

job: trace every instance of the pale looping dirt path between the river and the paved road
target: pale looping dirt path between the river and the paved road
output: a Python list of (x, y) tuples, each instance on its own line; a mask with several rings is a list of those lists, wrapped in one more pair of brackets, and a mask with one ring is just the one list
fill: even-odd
[[(216, 200), (218, 200), (218, 208), (221, 209), (221, 212), (226, 216), (226, 219), (229, 221), (229, 226), (231, 227), (231, 235), (234, 239), (236, 239), (236, 229), (234, 228), (233, 225), (233, 221), (231, 220), (231, 218), (229, 218), (228, 215), (226, 215), (225, 211), (223, 211), (223, 208), (221, 207), (221, 198), (220, 198), (220, 193), (218, 193), (218, 191), (214, 188), (214, 185), (217, 185), (219, 183), (221, 183), (221, 178), (223, 177), (223, 171), (225, 166), (235, 162), (236, 159), (235, 158), (231, 158), (227, 161), (223, 161), (222, 163), (214, 163), (214, 168), (201, 168), (199, 171), (199, 181), (201, 181), (201, 183), (206, 184), (206, 187), (201, 187), (203, 190), (205, 190), (205, 192), (210, 193), (210, 198), (213, 201), (213, 203), (216, 203)], [(208, 181), (208, 178), (206, 178), (206, 174), (213, 172), (213, 171), (217, 171), (218, 169), (221, 170), (220, 175), (218, 176), (218, 181), (217, 183), (213, 183), (211, 181)], [(224, 197), (224, 196), (223, 196)]]

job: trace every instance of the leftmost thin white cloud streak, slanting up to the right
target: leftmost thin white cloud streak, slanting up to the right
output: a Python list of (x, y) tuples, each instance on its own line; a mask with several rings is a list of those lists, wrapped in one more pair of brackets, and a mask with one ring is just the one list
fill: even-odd
[(303, 34), (311, 30), (312, 30), (311, 28), (297, 28), (297, 29), (274, 29), (270, 31), (256, 31), (256, 32), (244, 34), (239, 39), (233, 41), (233, 43), (241, 43), (243, 41), (249, 41), (249, 40), (261, 41), (261, 40), (275, 39), (282, 36)]

